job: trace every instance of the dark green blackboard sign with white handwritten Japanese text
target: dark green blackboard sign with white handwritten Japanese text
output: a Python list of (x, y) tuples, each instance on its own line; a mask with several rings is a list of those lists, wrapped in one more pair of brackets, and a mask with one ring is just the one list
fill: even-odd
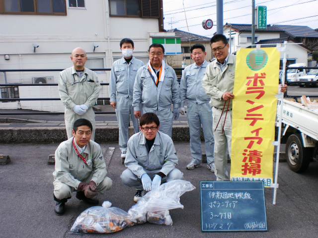
[(202, 232), (267, 231), (262, 181), (200, 181)]

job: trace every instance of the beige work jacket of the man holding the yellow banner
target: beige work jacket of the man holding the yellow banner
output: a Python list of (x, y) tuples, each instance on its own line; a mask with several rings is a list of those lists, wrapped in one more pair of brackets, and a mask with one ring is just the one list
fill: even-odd
[[(207, 95), (211, 97), (212, 107), (223, 109), (225, 100), (222, 95), (225, 92), (233, 93), (235, 77), (236, 57), (229, 55), (227, 65), (222, 71), (217, 64), (217, 60), (212, 61), (206, 69), (205, 76), (202, 79), (202, 86)], [(232, 109), (233, 100), (230, 101), (229, 109)], [(228, 107), (226, 104), (225, 110)]]

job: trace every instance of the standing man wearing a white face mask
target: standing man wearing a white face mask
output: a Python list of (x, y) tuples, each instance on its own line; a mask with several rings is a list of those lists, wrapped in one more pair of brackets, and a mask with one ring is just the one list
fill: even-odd
[(138, 132), (138, 120), (134, 116), (133, 89), (138, 69), (144, 62), (133, 57), (134, 42), (129, 38), (120, 41), (120, 50), (123, 58), (116, 60), (110, 72), (110, 105), (116, 109), (119, 127), (119, 148), (121, 158), (126, 158), (128, 126), (130, 118), (135, 133)]

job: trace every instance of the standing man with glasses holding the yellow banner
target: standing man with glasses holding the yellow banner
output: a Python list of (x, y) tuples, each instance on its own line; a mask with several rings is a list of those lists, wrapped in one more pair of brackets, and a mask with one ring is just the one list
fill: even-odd
[[(213, 134), (215, 139), (214, 160), (217, 180), (230, 180), (227, 171), (227, 146), (231, 157), (232, 143), (232, 102), (234, 99), (234, 78), (236, 57), (229, 54), (229, 44), (223, 34), (217, 34), (210, 40), (213, 55), (202, 79), (202, 86), (211, 97), (213, 113)], [(286, 92), (287, 85), (282, 85)], [(222, 113), (222, 111), (224, 111)], [(217, 127), (217, 129), (216, 129)], [(216, 130), (215, 130), (216, 129)], [(223, 132), (224, 131), (224, 132)]]

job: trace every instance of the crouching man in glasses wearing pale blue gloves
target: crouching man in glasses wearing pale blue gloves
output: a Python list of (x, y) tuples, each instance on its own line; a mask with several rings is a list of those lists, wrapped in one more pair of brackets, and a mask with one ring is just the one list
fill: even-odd
[(158, 131), (159, 119), (155, 113), (145, 113), (140, 118), (140, 129), (130, 137), (127, 144), (123, 183), (136, 188), (134, 202), (145, 191), (159, 187), (161, 182), (182, 179), (183, 173), (175, 168), (178, 157), (172, 139)]

